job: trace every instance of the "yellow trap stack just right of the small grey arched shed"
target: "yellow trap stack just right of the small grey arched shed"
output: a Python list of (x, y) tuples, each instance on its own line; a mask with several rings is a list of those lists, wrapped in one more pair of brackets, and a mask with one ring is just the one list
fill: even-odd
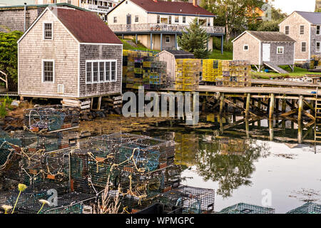
[(175, 71), (176, 90), (198, 90), (201, 71), (200, 59), (176, 59)]

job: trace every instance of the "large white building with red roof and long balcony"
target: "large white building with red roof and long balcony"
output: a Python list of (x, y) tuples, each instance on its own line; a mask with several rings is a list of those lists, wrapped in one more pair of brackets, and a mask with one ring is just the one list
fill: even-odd
[(208, 50), (213, 49), (213, 36), (222, 38), (225, 28), (214, 26), (215, 15), (193, 3), (157, 0), (123, 0), (108, 12), (108, 26), (118, 36), (136, 38), (153, 50), (177, 48), (177, 36), (193, 19), (210, 35)]

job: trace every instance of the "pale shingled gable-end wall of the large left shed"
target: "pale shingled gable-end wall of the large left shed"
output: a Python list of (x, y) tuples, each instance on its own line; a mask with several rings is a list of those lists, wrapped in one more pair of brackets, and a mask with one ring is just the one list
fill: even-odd
[[(54, 39), (43, 39), (43, 22), (52, 21)], [(54, 60), (54, 83), (42, 83), (42, 60)], [(58, 93), (63, 84), (64, 93)], [(50, 11), (37, 21), (19, 43), (19, 94), (40, 97), (76, 97), (78, 42)]]

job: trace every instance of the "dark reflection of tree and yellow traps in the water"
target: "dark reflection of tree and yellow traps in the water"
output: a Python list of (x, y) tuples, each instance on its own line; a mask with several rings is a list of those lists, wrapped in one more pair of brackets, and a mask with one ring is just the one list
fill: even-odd
[[(181, 138), (184, 140), (180, 141)], [(191, 147), (185, 147), (188, 139), (193, 142), (195, 138), (198, 142), (191, 143)], [(242, 185), (250, 185), (250, 177), (255, 171), (253, 162), (259, 157), (266, 157), (269, 152), (266, 143), (258, 145), (253, 140), (225, 137), (213, 139), (207, 135), (195, 137), (194, 134), (176, 133), (175, 142), (178, 143), (175, 162), (179, 165), (195, 165), (198, 175), (203, 177), (205, 182), (218, 182), (217, 194), (223, 197), (230, 197), (233, 190)], [(195, 147), (198, 147), (198, 150), (195, 150)]]

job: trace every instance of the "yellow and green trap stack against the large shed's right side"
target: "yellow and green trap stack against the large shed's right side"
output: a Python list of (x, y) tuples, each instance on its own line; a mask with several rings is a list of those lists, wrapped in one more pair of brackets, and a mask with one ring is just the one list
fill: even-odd
[(166, 63), (148, 51), (123, 50), (123, 86), (158, 89), (166, 86)]

